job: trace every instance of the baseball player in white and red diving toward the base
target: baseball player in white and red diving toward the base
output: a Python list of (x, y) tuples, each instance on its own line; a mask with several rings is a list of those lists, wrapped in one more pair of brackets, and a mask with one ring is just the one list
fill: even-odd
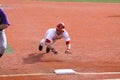
[(65, 24), (63, 22), (60, 22), (57, 24), (56, 28), (50, 28), (47, 30), (45, 37), (41, 40), (39, 44), (39, 50), (42, 51), (43, 46), (46, 45), (46, 53), (49, 53), (50, 50), (54, 53), (57, 54), (58, 51), (53, 47), (53, 44), (55, 43), (56, 40), (59, 39), (65, 39), (66, 42), (66, 50), (65, 53), (71, 53), (70, 48), (70, 36), (68, 32), (65, 30)]

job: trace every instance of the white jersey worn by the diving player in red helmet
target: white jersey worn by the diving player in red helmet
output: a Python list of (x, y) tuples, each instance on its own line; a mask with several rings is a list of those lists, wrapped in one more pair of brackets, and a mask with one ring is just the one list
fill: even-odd
[(49, 39), (51, 42), (53, 42), (55, 40), (58, 40), (58, 39), (61, 39), (61, 38), (64, 38), (65, 41), (70, 40), (69, 34), (65, 29), (64, 29), (64, 32), (60, 35), (58, 35), (56, 33), (56, 28), (48, 29), (47, 32), (46, 32), (45, 39)]

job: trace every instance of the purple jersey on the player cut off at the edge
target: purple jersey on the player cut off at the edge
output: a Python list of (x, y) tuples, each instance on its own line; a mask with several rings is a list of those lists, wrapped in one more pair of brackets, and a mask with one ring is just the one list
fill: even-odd
[[(10, 25), (10, 22), (5, 14), (5, 12), (0, 8), (0, 24), (8, 24)], [(2, 29), (0, 29), (2, 31)]]

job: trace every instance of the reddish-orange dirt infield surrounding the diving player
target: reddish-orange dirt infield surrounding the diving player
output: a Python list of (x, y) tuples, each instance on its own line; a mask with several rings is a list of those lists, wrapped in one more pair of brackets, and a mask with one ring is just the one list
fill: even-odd
[[(13, 54), (0, 59), (0, 80), (111, 80), (120, 79), (120, 4), (0, 0), (10, 18), (6, 30)], [(48, 28), (63, 21), (72, 43), (72, 55), (38, 51)], [(55, 75), (55, 69), (79, 74)], [(39, 73), (39, 74), (38, 74)]]

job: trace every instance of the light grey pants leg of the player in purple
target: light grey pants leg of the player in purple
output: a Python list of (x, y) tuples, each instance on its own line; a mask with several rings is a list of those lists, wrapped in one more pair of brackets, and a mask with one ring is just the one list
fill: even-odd
[(7, 47), (6, 35), (4, 31), (0, 31), (0, 57), (3, 56)]

